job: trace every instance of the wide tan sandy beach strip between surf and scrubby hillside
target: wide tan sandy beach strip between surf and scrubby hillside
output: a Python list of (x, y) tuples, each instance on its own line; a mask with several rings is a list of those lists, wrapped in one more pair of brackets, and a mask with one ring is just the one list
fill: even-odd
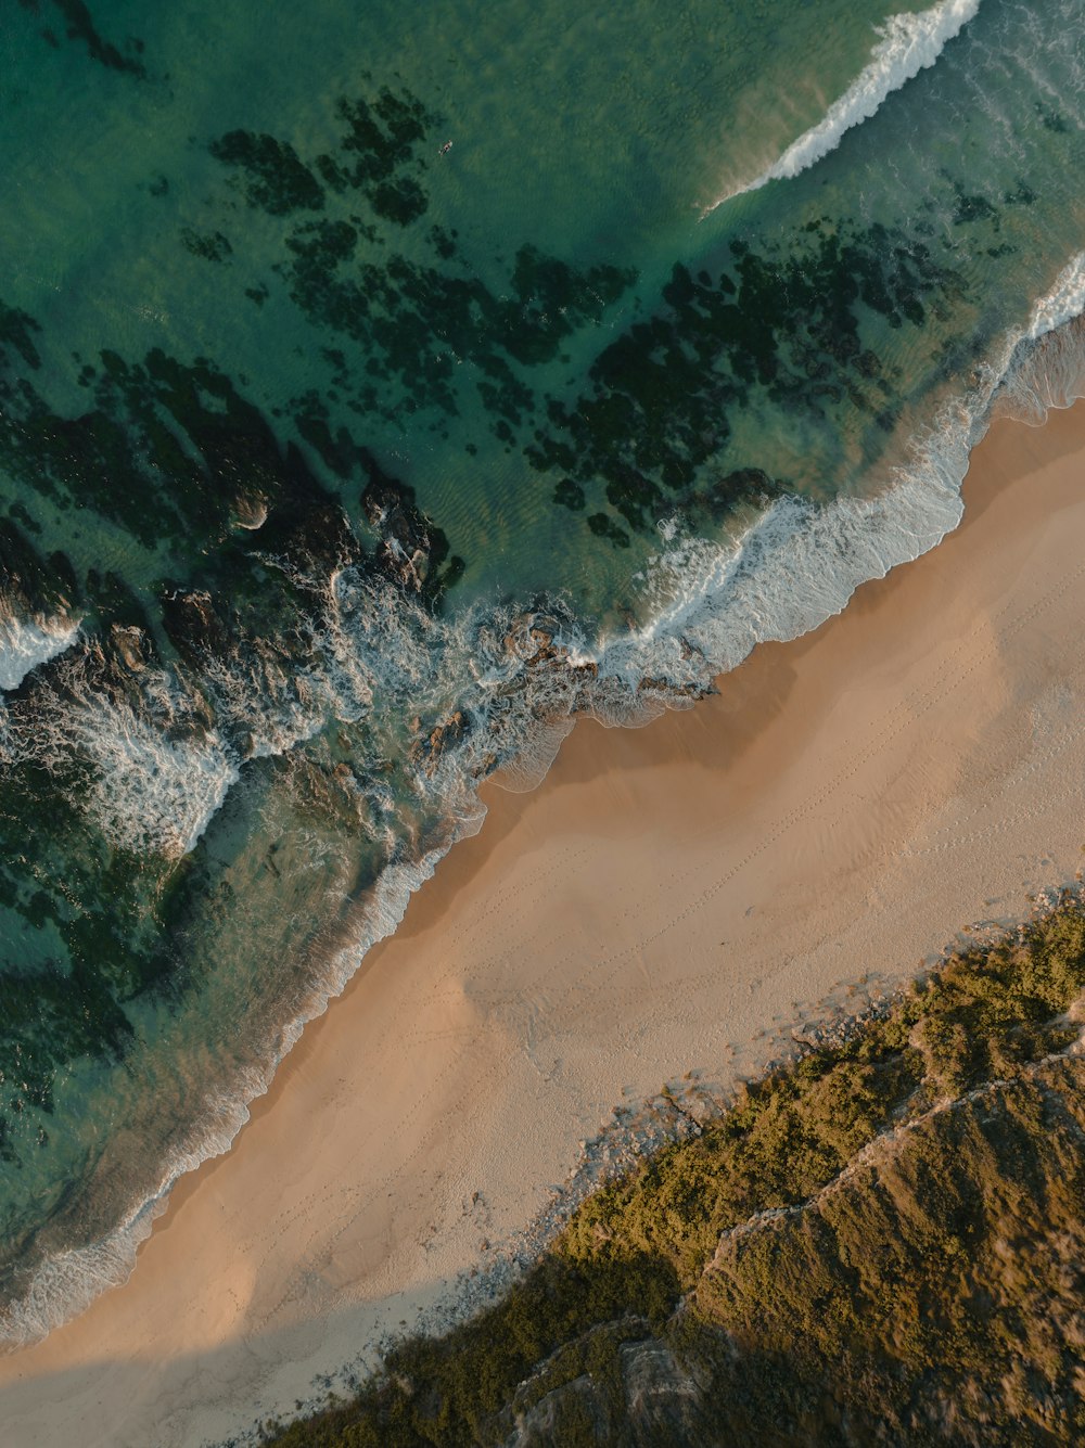
[(130, 1281), (0, 1360), (3, 1442), (190, 1445), (293, 1406), (493, 1258), (616, 1103), (726, 1085), (1072, 879), (1084, 482), (1085, 408), (995, 424), (931, 555), (694, 711), (584, 723), (536, 794), (491, 786)]

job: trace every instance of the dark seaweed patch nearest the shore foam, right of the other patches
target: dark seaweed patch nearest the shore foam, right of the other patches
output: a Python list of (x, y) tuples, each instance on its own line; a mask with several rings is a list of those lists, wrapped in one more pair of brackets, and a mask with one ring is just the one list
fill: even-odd
[[(847, 397), (882, 414), (891, 378), (863, 343), (865, 311), (891, 327), (921, 327), (927, 308), (943, 314), (963, 291), (926, 243), (878, 224), (830, 230), (813, 222), (788, 249), (758, 253), (734, 240), (730, 252), (716, 282), (675, 266), (663, 308), (600, 353), (590, 391), (568, 405), (548, 401), (549, 427), (536, 432), (527, 458), (540, 472), (564, 473), (555, 502), (579, 508), (601, 482), (626, 523), (646, 529), (668, 505), (720, 515), (774, 495), (778, 484), (749, 468), (697, 485), (727, 443), (729, 411), (761, 395), (821, 416)], [(608, 517), (587, 521), (620, 542), (604, 527)]]

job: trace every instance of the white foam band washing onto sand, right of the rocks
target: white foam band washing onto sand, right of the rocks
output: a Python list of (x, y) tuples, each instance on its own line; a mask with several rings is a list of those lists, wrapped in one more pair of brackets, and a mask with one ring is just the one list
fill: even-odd
[(1042, 421), (1047, 407), (1085, 395), (1084, 311), (1085, 253), (1078, 253), (1026, 326), (1005, 333), (975, 388), (914, 442), (882, 492), (823, 505), (781, 498), (726, 543), (668, 529), (642, 584), (652, 623), (606, 641), (601, 681), (629, 689), (646, 673), (663, 673), (704, 685), (755, 644), (817, 628), (859, 584), (934, 547), (960, 521), (960, 484), (992, 408)]

